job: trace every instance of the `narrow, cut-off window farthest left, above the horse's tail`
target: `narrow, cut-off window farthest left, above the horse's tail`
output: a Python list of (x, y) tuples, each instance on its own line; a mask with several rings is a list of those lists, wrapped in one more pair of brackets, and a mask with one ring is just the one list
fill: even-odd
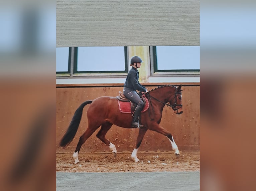
[(70, 73), (71, 48), (56, 48), (56, 74)]

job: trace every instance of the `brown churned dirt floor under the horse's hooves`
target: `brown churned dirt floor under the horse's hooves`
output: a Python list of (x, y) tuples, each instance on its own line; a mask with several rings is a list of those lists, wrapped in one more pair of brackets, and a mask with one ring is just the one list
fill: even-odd
[(174, 172), (200, 171), (200, 152), (137, 153), (139, 162), (131, 153), (79, 153), (80, 162), (74, 164), (73, 153), (56, 153), (56, 171), (60, 172)]

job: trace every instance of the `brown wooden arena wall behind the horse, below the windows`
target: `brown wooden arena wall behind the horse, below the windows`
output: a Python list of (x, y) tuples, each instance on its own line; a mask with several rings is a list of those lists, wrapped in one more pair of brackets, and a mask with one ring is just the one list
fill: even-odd
[[(163, 84), (143, 84), (152, 90)], [(178, 84), (176, 84), (178, 85)], [(99, 96), (117, 96), (123, 90), (123, 85), (56, 85), (56, 153), (73, 153), (79, 137), (87, 128), (87, 109), (83, 110), (83, 116), (77, 134), (66, 148), (59, 147), (59, 141), (80, 104), (89, 99)], [(171, 107), (163, 108), (160, 125), (167, 129), (178, 145), (179, 150), (200, 149), (200, 84), (182, 85), (183, 113), (173, 113)], [(100, 128), (99, 128), (100, 129)], [(82, 145), (80, 152), (110, 152), (110, 149), (96, 137), (97, 129), (91, 137)], [(113, 125), (106, 134), (106, 138), (115, 144), (117, 151), (132, 152), (139, 129), (126, 129)], [(148, 130), (139, 147), (139, 151), (171, 151), (172, 147), (167, 137), (154, 131)]]

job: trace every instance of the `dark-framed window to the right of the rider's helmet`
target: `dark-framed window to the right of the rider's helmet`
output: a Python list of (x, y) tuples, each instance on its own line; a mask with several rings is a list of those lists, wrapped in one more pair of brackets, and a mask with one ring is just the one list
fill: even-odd
[(200, 46), (154, 46), (155, 72), (199, 72)]

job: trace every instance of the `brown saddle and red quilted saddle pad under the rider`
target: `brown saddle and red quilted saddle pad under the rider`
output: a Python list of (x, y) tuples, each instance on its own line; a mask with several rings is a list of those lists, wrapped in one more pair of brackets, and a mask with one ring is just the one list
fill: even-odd
[[(148, 99), (145, 96), (142, 96), (142, 93), (139, 92), (138, 95), (142, 97), (142, 101), (144, 102), (143, 109), (141, 112), (145, 112), (148, 107)], [(133, 113), (137, 104), (132, 102), (130, 99), (126, 98), (125, 95), (119, 91), (119, 96), (116, 96), (118, 100), (119, 110), (122, 113)]]

